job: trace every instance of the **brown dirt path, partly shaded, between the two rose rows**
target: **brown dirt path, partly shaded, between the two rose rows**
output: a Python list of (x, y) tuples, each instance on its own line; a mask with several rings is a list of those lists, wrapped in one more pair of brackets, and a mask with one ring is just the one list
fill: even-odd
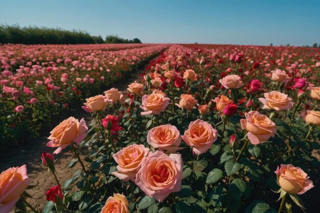
[[(115, 85), (110, 85), (108, 88), (118, 88), (120, 91), (126, 91), (128, 84), (134, 82), (135, 80), (141, 78), (141, 74), (144, 71), (145, 66), (142, 66), (139, 70), (136, 70), (131, 74), (130, 77), (125, 78), (121, 82), (117, 82)], [(102, 91), (101, 91), (102, 92)], [(49, 132), (58, 125), (61, 121), (66, 119), (69, 116), (74, 116), (76, 119), (81, 119), (82, 117), (86, 120), (87, 123), (90, 121), (89, 113), (85, 112), (82, 108), (82, 105), (79, 108), (66, 113), (59, 114), (53, 123), (50, 125), (50, 128), (45, 129), (41, 132), (40, 137), (30, 141), (27, 145), (20, 146), (19, 148), (12, 148), (6, 153), (0, 153), (0, 171), (7, 170), (9, 167), (17, 167), (23, 164), (27, 165), (28, 176), (30, 179), (30, 185), (38, 185), (32, 190), (27, 192), (37, 199), (30, 199), (29, 202), (34, 207), (38, 207), (40, 210), (43, 209), (45, 203), (47, 202), (45, 198), (45, 192), (52, 186), (56, 185), (56, 181), (49, 172), (47, 168), (42, 165), (41, 162), (41, 153), (42, 151), (52, 153), (55, 149), (47, 147), (48, 139), (50, 135)], [(63, 182), (72, 177), (74, 172), (81, 169), (79, 163), (72, 169), (68, 168), (67, 165), (72, 159), (72, 153), (70, 148), (66, 148), (59, 155), (59, 158), (55, 162), (55, 167), (57, 171), (57, 177), (59, 182), (63, 185)]]

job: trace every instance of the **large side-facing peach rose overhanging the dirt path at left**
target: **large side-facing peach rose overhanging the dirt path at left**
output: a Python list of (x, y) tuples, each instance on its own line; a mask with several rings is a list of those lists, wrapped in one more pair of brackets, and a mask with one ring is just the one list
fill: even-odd
[(61, 122), (51, 132), (48, 139), (50, 140), (47, 144), (48, 147), (59, 147), (53, 154), (60, 153), (71, 143), (80, 144), (80, 142), (87, 136), (86, 132), (88, 127), (85, 124), (84, 119), (80, 122), (74, 117)]

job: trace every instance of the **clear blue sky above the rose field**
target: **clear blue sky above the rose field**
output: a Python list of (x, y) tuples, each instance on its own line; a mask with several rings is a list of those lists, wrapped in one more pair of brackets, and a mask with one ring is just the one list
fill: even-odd
[(320, 42), (319, 0), (0, 0), (0, 8), (0, 23), (137, 37), (145, 43)]

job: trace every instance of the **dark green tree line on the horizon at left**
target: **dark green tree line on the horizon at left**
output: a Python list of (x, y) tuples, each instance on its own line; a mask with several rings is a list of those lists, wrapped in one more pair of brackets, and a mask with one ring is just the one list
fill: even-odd
[(138, 38), (132, 40), (108, 35), (92, 36), (81, 30), (63, 30), (60, 28), (46, 28), (29, 26), (21, 28), (19, 25), (0, 25), (0, 43), (21, 44), (88, 44), (88, 43), (141, 43)]

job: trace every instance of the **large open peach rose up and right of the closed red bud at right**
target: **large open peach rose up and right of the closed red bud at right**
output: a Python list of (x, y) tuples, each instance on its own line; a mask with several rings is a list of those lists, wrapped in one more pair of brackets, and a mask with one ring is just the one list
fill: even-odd
[(276, 124), (258, 111), (245, 112), (245, 119), (240, 120), (241, 128), (248, 131), (248, 139), (253, 145), (262, 144), (270, 137), (275, 137)]

